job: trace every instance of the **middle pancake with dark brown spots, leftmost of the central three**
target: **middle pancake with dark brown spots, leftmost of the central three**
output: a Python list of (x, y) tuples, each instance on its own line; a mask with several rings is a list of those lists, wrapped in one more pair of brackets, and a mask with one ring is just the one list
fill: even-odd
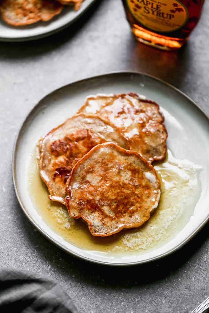
[(51, 200), (65, 203), (65, 184), (71, 170), (91, 148), (106, 141), (129, 148), (120, 131), (96, 115), (79, 114), (39, 141), (39, 169)]

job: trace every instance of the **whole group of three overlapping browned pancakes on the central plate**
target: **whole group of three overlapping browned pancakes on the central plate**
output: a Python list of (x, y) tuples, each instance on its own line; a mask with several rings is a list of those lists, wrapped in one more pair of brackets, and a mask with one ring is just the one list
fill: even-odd
[(94, 236), (142, 225), (158, 206), (151, 165), (166, 155), (159, 105), (135, 93), (86, 98), (77, 114), (38, 143), (49, 198), (82, 218)]

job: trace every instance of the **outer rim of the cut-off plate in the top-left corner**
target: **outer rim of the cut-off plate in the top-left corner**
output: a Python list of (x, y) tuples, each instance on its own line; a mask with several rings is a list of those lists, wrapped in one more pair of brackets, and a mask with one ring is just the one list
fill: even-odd
[[(90, 7), (91, 5), (93, 5), (93, 3), (95, 3), (97, 0), (91, 0), (91, 2), (85, 7), (85, 8), (81, 8), (80, 12), (78, 12), (78, 14), (73, 17), (71, 20), (69, 20), (68, 22), (66, 22), (64, 25), (61, 25), (59, 27), (55, 27), (55, 29), (52, 29), (50, 31), (46, 31), (37, 35), (25, 35), (23, 37), (17, 36), (17, 37), (7, 37), (7, 36), (0, 36), (0, 42), (24, 42), (24, 41), (30, 41), (30, 40), (37, 40), (40, 38), (45, 38), (48, 37), (52, 34), (58, 33), (59, 31), (67, 28), (68, 26), (70, 26), (71, 24), (75, 23)], [(76, 13), (76, 11), (75, 11)], [(53, 19), (52, 19), (53, 20)], [(27, 26), (27, 25), (26, 25)]]

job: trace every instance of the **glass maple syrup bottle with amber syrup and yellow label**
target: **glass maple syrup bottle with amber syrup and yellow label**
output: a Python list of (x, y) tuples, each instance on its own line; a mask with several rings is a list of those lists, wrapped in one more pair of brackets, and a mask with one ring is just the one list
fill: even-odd
[(196, 26), (204, 0), (122, 0), (134, 37), (150, 46), (176, 50)]

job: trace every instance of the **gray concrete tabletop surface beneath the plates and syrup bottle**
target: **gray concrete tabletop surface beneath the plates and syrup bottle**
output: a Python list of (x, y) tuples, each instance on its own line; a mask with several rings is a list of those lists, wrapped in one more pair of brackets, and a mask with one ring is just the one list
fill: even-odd
[(25, 218), (11, 175), (15, 135), (27, 112), (50, 91), (113, 70), (161, 78), (207, 113), (209, 2), (188, 44), (162, 52), (134, 41), (120, 0), (97, 3), (58, 34), (26, 43), (0, 43), (0, 265), (59, 280), (80, 313), (189, 313), (208, 294), (207, 226), (183, 249), (143, 266), (110, 268), (65, 254)]

